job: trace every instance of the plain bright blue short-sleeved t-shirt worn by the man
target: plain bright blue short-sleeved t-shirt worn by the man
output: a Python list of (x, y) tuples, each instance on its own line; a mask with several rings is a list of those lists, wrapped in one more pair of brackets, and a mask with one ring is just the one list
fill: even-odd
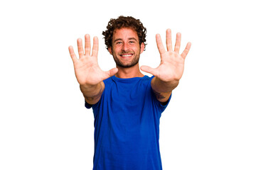
[(152, 78), (110, 77), (100, 101), (85, 103), (95, 117), (94, 170), (162, 169), (159, 119), (169, 101), (162, 106), (156, 99)]

